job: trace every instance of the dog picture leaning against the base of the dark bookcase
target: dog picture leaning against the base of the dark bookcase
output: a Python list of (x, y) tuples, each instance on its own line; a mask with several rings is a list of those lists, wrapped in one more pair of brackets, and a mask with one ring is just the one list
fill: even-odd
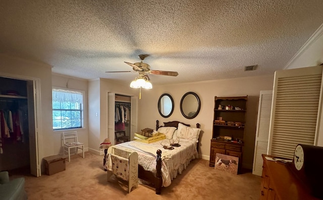
[(216, 154), (216, 164), (214, 165), (214, 169), (238, 174), (238, 163), (238, 157)]

